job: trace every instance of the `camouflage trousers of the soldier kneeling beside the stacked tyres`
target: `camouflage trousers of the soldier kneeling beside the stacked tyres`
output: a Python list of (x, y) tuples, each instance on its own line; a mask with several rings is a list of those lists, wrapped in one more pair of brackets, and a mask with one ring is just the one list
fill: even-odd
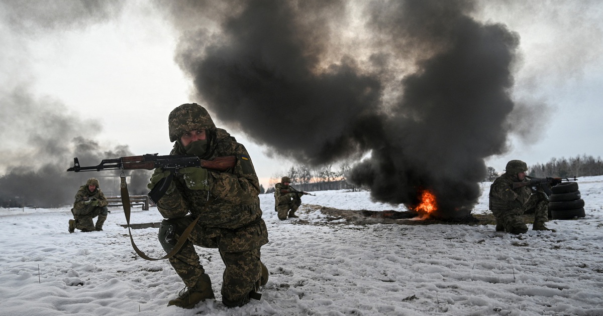
[(523, 234), (528, 231), (528, 226), (523, 221), (523, 214), (534, 211), (534, 222), (545, 223), (549, 220), (549, 200), (542, 194), (532, 194), (522, 208), (492, 210), (496, 217), (496, 225), (502, 225), (505, 232)]

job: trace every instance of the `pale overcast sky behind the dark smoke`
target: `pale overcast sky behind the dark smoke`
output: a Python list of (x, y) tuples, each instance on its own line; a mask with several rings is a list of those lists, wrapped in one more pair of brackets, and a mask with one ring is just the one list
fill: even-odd
[[(513, 98), (532, 104), (510, 114), (510, 120), (530, 119), (511, 132), (507, 153), (491, 156), (487, 166), (502, 172), (511, 159), (535, 164), (553, 157), (603, 156), (603, 4), (523, 2), (479, 2), (472, 15), (484, 23), (504, 23), (519, 35)], [(0, 175), (43, 158), (32, 157), (36, 137), (48, 143), (84, 137), (104, 148), (126, 145), (136, 154), (168, 154), (169, 112), (180, 104), (202, 103), (192, 78), (175, 61), (184, 28), (166, 17), (166, 5), (90, 1), (74, 8), (67, 3), (73, 2), (0, 0)], [(218, 27), (214, 22), (198, 20), (210, 30)], [(265, 186), (294, 164), (291, 156), (251, 141), (244, 126), (213, 118), (245, 144)]]

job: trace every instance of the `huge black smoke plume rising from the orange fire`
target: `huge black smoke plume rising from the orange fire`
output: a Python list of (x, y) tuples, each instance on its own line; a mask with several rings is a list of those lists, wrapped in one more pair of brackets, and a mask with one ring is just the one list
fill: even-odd
[(516, 34), (470, 1), (244, 4), (178, 48), (220, 120), (303, 163), (370, 152), (349, 179), (376, 200), (412, 206), (427, 188), (444, 213), (475, 205), (484, 159), (506, 150)]

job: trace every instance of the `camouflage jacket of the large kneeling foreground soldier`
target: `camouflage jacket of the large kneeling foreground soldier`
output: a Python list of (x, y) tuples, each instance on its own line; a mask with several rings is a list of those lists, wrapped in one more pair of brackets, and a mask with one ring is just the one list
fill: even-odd
[[(190, 190), (182, 175), (176, 175), (174, 190), (168, 190), (157, 203), (159, 212), (165, 218), (180, 218), (190, 212), (199, 216), (198, 225), (206, 228), (239, 229), (263, 223), (258, 197), (260, 185), (245, 147), (219, 128), (213, 131), (208, 142), (207, 155), (202, 159), (232, 155), (236, 156), (235, 167), (225, 172), (208, 170), (209, 191)], [(177, 143), (170, 154), (182, 154)]]

